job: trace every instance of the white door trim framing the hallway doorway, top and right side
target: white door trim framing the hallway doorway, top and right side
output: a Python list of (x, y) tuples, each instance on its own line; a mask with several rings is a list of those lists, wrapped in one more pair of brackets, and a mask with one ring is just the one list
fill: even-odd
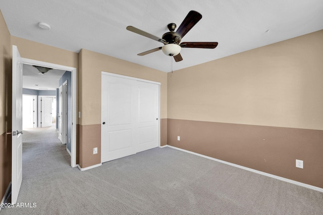
[(71, 89), (72, 89), (72, 144), (71, 144), (71, 167), (76, 167), (76, 80), (77, 80), (77, 73), (76, 68), (71, 66), (65, 66), (55, 63), (49, 63), (39, 60), (33, 60), (28, 58), (22, 58), (23, 63), (31, 64), (31, 65), (38, 65), (38, 66), (45, 66), (49, 68), (56, 68), (66, 71), (72, 72), (72, 82), (71, 82)]

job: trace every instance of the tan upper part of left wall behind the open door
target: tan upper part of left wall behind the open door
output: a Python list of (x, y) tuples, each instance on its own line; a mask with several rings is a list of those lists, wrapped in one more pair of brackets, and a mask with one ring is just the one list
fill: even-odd
[[(8, 88), (11, 88), (11, 46), (10, 33), (8, 31), (6, 22), (0, 12), (0, 135), (5, 133), (7, 129), (11, 129), (11, 120), (8, 124), (7, 117), (10, 114), (6, 111), (8, 109)], [(8, 84), (10, 83), (10, 86)], [(11, 101), (11, 100), (10, 100)], [(11, 105), (11, 104), (10, 104)], [(11, 106), (10, 106), (11, 107)], [(9, 114), (9, 115), (8, 115)], [(11, 116), (10, 116), (11, 117)]]

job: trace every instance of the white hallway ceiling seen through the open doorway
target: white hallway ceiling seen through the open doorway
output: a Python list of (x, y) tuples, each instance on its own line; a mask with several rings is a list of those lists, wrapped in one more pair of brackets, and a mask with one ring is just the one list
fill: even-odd
[(50, 69), (47, 73), (41, 74), (37, 68), (29, 64), (23, 64), (22, 87), (33, 90), (56, 90), (59, 88), (59, 81), (65, 71)]

